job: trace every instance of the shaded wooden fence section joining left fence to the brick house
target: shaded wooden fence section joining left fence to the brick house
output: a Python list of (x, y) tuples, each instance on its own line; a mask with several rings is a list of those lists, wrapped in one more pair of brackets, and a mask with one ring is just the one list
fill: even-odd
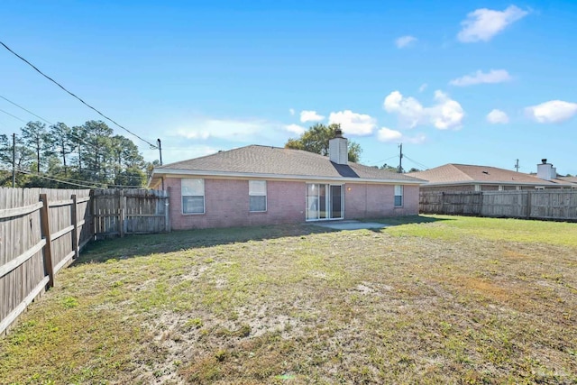
[(102, 189), (94, 190), (92, 198), (96, 239), (170, 231), (167, 191)]

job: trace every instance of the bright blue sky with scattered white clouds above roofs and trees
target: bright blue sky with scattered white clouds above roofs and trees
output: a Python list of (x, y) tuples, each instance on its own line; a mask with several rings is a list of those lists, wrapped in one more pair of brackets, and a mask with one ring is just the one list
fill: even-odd
[[(574, 175), (576, 20), (572, 1), (5, 0), (0, 41), (160, 138), (165, 163), (335, 122), (368, 165), (397, 165), (402, 142), (406, 169), (518, 159), (535, 172), (547, 158)], [(101, 119), (3, 47), (0, 96), (52, 123)], [(0, 111), (0, 133), (22, 125)]]

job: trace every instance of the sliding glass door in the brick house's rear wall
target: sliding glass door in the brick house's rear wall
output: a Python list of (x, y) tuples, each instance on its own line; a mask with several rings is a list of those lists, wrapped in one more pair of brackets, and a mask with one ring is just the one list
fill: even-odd
[(343, 219), (342, 185), (307, 183), (307, 221)]

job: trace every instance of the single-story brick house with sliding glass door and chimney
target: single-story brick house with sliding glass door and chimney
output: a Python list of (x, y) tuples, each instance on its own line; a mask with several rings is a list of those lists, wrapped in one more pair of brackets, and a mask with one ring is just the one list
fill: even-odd
[(272, 225), (418, 214), (423, 180), (348, 162), (342, 134), (329, 156), (261, 145), (154, 168), (172, 229)]

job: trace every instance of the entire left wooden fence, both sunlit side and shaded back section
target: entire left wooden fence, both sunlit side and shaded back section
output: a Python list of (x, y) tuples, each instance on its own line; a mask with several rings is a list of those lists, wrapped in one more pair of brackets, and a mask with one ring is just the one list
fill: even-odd
[(168, 232), (168, 204), (146, 189), (0, 188), (0, 334), (88, 242)]

